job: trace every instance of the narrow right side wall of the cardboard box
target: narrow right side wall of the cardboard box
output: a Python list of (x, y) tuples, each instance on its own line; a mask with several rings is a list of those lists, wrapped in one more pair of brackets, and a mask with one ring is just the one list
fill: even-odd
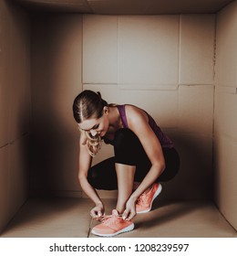
[(215, 201), (237, 229), (237, 1), (217, 15)]

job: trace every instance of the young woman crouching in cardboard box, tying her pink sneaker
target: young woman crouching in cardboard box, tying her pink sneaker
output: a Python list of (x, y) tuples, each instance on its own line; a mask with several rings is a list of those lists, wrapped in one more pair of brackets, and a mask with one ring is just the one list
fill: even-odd
[[(134, 229), (132, 219), (151, 209), (161, 191), (160, 181), (170, 180), (179, 170), (173, 143), (149, 113), (130, 104), (108, 104), (99, 92), (77, 95), (73, 113), (81, 131), (78, 179), (95, 203), (91, 217), (102, 220), (92, 233), (114, 236)], [(102, 141), (113, 145), (114, 156), (91, 167)], [(104, 215), (96, 189), (118, 189), (111, 215)]]

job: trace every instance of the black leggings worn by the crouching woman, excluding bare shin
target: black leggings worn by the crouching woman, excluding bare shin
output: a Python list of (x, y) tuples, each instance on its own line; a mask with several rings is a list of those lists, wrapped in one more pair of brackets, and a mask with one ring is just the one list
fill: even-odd
[[(110, 157), (88, 170), (88, 182), (92, 187), (105, 190), (118, 189), (115, 163), (135, 165), (134, 181), (141, 182), (148, 174), (151, 163), (138, 136), (127, 128), (118, 129), (114, 138), (115, 156)], [(180, 168), (180, 157), (175, 148), (163, 148), (166, 168), (157, 182), (169, 181)]]

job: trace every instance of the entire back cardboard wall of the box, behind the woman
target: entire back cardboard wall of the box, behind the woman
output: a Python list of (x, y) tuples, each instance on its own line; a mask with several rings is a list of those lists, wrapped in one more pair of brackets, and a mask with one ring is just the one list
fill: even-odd
[(32, 31), (33, 190), (81, 195), (71, 104), (91, 89), (144, 108), (173, 139), (180, 174), (162, 197), (211, 197), (214, 15), (38, 16)]

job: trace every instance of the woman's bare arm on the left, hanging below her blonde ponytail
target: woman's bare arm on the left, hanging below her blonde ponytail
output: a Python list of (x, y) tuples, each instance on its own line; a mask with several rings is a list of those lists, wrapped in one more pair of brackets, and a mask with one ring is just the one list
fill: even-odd
[(91, 165), (91, 161), (92, 157), (88, 154), (87, 144), (85, 144), (85, 138), (82, 134), (79, 144), (78, 180), (83, 191), (96, 205), (95, 208), (91, 209), (90, 214), (94, 219), (97, 219), (104, 214), (104, 206), (95, 188), (88, 183), (88, 169)]

